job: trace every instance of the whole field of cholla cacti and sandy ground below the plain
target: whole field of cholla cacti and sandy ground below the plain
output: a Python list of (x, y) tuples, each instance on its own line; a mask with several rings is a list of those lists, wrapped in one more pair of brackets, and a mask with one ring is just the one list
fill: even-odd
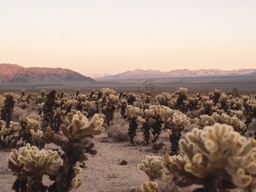
[(0, 191), (256, 191), (256, 96), (15, 90), (0, 95)]

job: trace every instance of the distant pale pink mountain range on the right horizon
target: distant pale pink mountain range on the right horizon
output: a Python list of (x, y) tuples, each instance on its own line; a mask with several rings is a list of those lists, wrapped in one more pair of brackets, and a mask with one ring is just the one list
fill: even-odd
[(177, 69), (169, 72), (161, 72), (159, 70), (142, 70), (136, 69), (99, 77), (97, 79), (155, 79), (155, 78), (172, 78), (172, 77), (200, 77), (200, 76), (231, 76), (231, 75), (255, 75), (256, 69), (236, 69), (236, 70), (220, 70), (220, 69)]

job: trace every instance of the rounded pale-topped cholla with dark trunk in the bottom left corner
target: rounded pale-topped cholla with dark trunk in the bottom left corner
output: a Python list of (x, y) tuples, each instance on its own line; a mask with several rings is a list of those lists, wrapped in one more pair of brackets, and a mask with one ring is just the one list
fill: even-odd
[(53, 150), (39, 150), (26, 144), (19, 150), (13, 149), (9, 155), (9, 168), (16, 175), (15, 191), (46, 191), (42, 183), (44, 174), (55, 176), (63, 164), (61, 156)]

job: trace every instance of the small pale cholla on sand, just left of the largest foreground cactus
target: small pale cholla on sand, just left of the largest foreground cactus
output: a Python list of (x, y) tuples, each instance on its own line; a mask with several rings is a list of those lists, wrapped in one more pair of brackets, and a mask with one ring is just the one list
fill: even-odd
[(146, 156), (143, 163), (138, 165), (138, 168), (148, 175), (150, 181), (154, 181), (163, 176), (164, 163), (159, 156)]

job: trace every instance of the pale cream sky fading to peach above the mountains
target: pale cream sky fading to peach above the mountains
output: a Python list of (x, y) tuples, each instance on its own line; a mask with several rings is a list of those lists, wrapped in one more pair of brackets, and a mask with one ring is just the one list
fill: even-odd
[(256, 68), (255, 0), (0, 0), (0, 63), (79, 73)]

